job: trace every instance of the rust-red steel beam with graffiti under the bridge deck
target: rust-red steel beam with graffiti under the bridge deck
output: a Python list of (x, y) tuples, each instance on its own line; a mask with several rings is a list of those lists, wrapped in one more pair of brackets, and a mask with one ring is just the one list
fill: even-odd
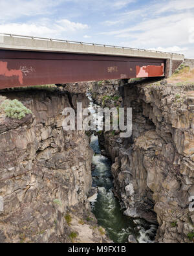
[(154, 58), (0, 50), (0, 89), (165, 76), (165, 62)]

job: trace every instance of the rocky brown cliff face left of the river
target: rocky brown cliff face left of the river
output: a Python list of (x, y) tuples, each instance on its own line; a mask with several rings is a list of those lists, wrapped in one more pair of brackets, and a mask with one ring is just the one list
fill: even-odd
[(87, 200), (89, 137), (62, 128), (63, 109), (76, 110), (78, 101), (87, 107), (87, 98), (40, 90), (6, 97), (19, 99), (33, 116), (14, 121), (1, 115), (0, 242), (104, 242), (92, 229), (96, 220)]

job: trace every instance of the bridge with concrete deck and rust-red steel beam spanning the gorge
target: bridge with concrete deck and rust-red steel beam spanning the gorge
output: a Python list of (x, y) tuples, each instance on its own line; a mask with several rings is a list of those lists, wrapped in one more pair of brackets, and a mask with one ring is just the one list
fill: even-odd
[(0, 34), (0, 89), (170, 76), (183, 54)]

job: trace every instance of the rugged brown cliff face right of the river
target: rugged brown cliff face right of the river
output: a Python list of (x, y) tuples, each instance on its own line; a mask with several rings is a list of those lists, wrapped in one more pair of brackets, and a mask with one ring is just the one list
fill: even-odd
[(133, 135), (99, 135), (114, 161), (114, 192), (126, 215), (158, 222), (156, 241), (191, 242), (194, 86), (136, 82), (126, 83), (120, 93), (123, 106), (133, 108)]

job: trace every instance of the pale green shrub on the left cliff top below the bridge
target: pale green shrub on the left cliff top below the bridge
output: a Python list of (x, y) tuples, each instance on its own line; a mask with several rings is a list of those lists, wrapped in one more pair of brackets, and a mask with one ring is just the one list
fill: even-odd
[(6, 113), (6, 117), (23, 119), (25, 115), (32, 114), (19, 100), (5, 100), (1, 106), (1, 110)]

